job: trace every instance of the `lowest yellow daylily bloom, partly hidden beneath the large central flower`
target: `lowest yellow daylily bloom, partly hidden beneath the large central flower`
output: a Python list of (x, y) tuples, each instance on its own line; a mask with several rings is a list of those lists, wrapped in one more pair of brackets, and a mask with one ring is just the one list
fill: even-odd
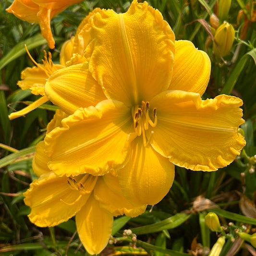
[[(61, 125), (65, 116), (57, 110), (48, 132)], [(47, 166), (49, 158), (44, 153), (44, 144), (37, 144), (33, 158), (33, 170), (40, 177), (24, 193), (24, 202), (31, 207), (29, 219), (39, 227), (49, 227), (75, 215), (77, 232), (86, 251), (100, 253), (108, 244), (113, 216), (136, 217), (145, 211), (146, 205), (134, 207), (125, 199), (114, 172), (104, 176), (56, 175)]]

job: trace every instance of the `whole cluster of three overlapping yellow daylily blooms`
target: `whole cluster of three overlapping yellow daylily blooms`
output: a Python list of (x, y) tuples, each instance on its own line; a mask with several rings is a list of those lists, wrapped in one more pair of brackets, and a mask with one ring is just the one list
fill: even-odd
[(168, 193), (174, 165), (216, 171), (245, 145), (238, 132), (242, 100), (201, 99), (210, 77), (207, 54), (175, 41), (147, 2), (134, 0), (120, 14), (95, 9), (63, 45), (60, 60), (45, 56), (23, 71), (18, 85), (42, 98), (10, 118), (48, 100), (60, 108), (37, 145), (39, 178), (24, 201), (41, 227), (76, 216), (90, 254), (107, 245), (113, 216), (137, 216)]

